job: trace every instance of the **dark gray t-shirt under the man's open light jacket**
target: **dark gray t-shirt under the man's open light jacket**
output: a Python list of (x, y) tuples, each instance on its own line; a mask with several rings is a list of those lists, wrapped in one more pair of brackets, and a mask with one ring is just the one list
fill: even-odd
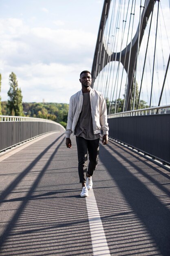
[(82, 112), (79, 115), (79, 119), (75, 127), (75, 136), (89, 140), (98, 139), (100, 137), (100, 133), (94, 134), (93, 132), (90, 92), (83, 93)]

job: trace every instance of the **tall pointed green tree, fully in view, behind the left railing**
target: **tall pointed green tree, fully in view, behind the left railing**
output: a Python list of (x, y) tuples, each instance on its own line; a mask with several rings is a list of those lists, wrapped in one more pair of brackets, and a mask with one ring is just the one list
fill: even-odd
[(22, 92), (18, 88), (17, 77), (13, 72), (9, 75), (9, 85), (8, 96), (10, 99), (8, 100), (8, 108), (10, 115), (23, 116)]

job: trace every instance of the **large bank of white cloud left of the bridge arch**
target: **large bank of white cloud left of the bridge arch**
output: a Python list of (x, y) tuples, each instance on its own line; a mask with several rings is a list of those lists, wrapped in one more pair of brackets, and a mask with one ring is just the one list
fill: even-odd
[(29, 28), (20, 19), (0, 20), (0, 28), (2, 101), (14, 72), (23, 101), (69, 103), (81, 88), (79, 73), (91, 70), (96, 37), (81, 29)]

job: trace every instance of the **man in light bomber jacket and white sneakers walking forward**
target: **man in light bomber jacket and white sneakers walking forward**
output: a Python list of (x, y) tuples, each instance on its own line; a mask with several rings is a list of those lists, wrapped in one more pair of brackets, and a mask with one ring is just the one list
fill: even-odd
[(88, 190), (93, 186), (92, 175), (97, 167), (101, 130), (104, 133), (102, 143), (108, 144), (108, 123), (106, 101), (101, 92), (91, 88), (91, 72), (82, 71), (79, 81), (82, 84), (82, 90), (70, 98), (66, 146), (71, 148), (70, 135), (73, 132), (77, 143), (79, 182), (82, 183), (80, 195), (86, 197)]

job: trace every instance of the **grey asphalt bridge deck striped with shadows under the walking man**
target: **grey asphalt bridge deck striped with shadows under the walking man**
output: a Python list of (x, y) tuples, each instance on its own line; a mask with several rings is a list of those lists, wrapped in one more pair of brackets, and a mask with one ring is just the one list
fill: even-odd
[[(52, 133), (0, 157), (0, 255), (169, 256), (170, 172), (109, 141), (87, 201), (72, 142)], [(86, 203), (103, 233), (90, 229)]]

